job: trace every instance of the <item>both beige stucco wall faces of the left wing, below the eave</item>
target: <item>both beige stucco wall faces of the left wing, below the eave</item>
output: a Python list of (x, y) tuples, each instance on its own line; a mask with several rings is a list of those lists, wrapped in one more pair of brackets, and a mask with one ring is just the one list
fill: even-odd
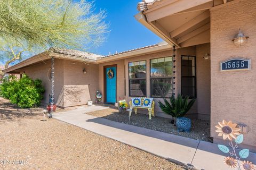
[[(73, 64), (75, 63), (75, 64)], [(49, 69), (51, 60), (21, 69), (33, 79), (41, 79), (45, 88), (43, 103), (49, 103), (51, 81)], [(88, 100), (95, 101), (98, 90), (98, 64), (85, 64), (69, 60), (54, 59), (54, 101), (59, 107), (70, 107), (87, 104)], [(86, 74), (83, 73), (86, 70)]]

